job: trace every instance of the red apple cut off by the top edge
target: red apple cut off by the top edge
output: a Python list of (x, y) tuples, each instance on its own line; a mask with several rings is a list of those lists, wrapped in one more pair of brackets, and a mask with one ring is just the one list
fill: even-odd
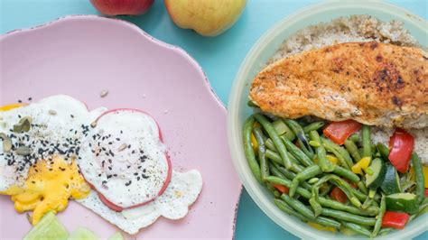
[(154, 4), (154, 0), (90, 0), (90, 3), (101, 14), (141, 15)]

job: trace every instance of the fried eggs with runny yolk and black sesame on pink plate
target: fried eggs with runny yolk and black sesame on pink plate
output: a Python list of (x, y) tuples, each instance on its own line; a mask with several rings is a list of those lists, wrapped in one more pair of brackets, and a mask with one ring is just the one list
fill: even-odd
[(18, 212), (59, 212), (69, 198), (129, 234), (185, 217), (199, 171), (172, 171), (154, 119), (135, 109), (88, 111), (69, 96), (0, 107), (0, 194)]

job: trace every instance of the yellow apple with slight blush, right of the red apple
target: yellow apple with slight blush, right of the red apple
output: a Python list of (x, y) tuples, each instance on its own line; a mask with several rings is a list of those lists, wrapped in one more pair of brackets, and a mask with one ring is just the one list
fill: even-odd
[(247, 0), (164, 0), (172, 22), (203, 36), (217, 36), (242, 14)]

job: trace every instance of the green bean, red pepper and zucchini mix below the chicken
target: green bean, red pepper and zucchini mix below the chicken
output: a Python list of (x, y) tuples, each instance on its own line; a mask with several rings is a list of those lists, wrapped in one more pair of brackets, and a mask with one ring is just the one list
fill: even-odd
[[(414, 138), (396, 129), (389, 147), (353, 120), (247, 118), (244, 146), (256, 180), (282, 211), (320, 230), (375, 237), (428, 210), (428, 171)], [(428, 177), (428, 176), (427, 176)]]

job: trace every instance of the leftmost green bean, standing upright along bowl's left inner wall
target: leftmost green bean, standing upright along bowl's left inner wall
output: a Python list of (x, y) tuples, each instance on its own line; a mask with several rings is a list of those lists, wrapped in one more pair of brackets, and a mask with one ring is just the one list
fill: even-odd
[(256, 180), (262, 182), (260, 167), (256, 161), (256, 154), (254, 153), (253, 144), (251, 144), (251, 133), (253, 131), (254, 117), (250, 116), (244, 125), (244, 151), (246, 153), (247, 162), (250, 170), (253, 171), (253, 175)]

